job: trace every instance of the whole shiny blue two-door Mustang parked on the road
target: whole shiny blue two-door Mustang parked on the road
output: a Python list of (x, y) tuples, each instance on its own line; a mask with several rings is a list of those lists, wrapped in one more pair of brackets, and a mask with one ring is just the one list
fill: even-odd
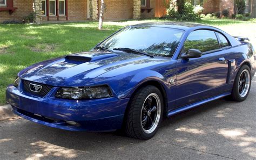
[(117, 31), (90, 52), (22, 70), (6, 101), (42, 125), (122, 129), (146, 140), (166, 117), (226, 96), (245, 100), (254, 73), (247, 38), (199, 24), (146, 23)]

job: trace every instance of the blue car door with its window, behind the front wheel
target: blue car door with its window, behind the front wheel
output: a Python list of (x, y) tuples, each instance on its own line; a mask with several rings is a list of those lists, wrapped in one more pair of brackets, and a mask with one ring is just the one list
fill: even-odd
[(176, 108), (223, 92), (228, 64), (214, 31), (196, 30), (184, 42), (183, 52), (198, 49), (202, 56), (177, 60)]

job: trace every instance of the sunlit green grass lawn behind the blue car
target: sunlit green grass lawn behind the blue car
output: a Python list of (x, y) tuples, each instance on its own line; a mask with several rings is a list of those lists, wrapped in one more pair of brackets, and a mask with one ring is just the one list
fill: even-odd
[[(106, 22), (102, 31), (97, 30), (96, 22), (0, 25), (0, 104), (5, 103), (6, 86), (23, 68), (54, 57), (90, 50), (123, 26), (149, 21), (161, 20)], [(233, 35), (247, 36), (253, 42), (256, 39), (255, 20), (203, 19), (197, 23), (214, 25)]]

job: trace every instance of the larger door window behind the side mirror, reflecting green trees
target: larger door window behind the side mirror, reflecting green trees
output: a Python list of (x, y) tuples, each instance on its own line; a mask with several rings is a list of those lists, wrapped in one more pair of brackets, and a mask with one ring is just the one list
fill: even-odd
[(202, 53), (214, 49), (219, 49), (218, 39), (213, 31), (197, 30), (188, 35), (184, 42), (185, 52), (188, 49), (198, 49)]

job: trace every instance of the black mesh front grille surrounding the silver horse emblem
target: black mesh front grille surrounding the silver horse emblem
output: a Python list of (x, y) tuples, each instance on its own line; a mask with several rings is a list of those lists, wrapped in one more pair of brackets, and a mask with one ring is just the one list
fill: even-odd
[[(31, 91), (29, 86), (31, 83), (36, 85), (41, 85), (42, 86), (41, 91), (40, 92)], [(53, 86), (51, 85), (46, 85), (46, 84), (36, 83), (36, 82), (31, 82), (26, 80), (23, 80), (23, 86), (26, 92), (29, 92), (31, 94), (35, 94), (38, 96), (46, 96), (46, 94), (48, 94), (53, 89)]]

